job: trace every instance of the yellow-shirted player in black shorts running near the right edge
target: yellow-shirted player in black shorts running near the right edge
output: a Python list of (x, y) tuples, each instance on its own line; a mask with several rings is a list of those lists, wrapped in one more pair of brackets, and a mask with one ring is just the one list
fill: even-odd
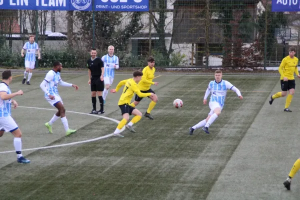
[(272, 104), (275, 98), (279, 98), (285, 96), (288, 90), (288, 94), (285, 100), (285, 107), (284, 111), (291, 112), (289, 109), (289, 105), (292, 99), (292, 95), (295, 92), (295, 79), (294, 73), (300, 78), (299, 71), (298, 71), (298, 58), (295, 57), (296, 49), (295, 47), (291, 46), (288, 48), (289, 55), (284, 57), (281, 61), (279, 66), (279, 73), (280, 73), (280, 85), (281, 90), (273, 95), (271, 95), (269, 99), (269, 103)]

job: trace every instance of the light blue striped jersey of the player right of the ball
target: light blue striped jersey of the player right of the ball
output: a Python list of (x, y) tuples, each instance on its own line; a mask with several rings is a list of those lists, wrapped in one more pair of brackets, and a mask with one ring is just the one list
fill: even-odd
[(233, 84), (228, 82), (227, 80), (221, 80), (220, 82), (216, 82), (215, 80), (211, 80), (208, 84), (208, 89), (211, 90), (211, 96), (209, 102), (218, 102), (221, 106), (224, 105), (227, 89), (231, 89)]

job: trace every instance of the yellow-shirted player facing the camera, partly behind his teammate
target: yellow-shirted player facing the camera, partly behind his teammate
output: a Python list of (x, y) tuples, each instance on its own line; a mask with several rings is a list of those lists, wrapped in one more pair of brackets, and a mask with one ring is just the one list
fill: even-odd
[[(156, 105), (156, 102), (157, 102), (158, 98), (157, 98), (157, 95), (155, 94), (155, 92), (150, 88), (150, 85), (151, 84), (158, 85), (158, 82), (153, 82), (152, 81), (153, 78), (154, 78), (154, 72), (155, 72), (155, 68), (154, 68), (155, 60), (154, 60), (154, 57), (152, 57), (152, 56), (148, 57), (147, 61), (148, 61), (148, 65), (145, 66), (142, 69), (143, 75), (141, 77), (140, 82), (138, 83), (138, 88), (140, 89), (140, 91), (142, 93), (147, 93), (147, 92), (154, 93), (154, 95), (149, 96), (149, 98), (151, 99), (151, 102), (149, 104), (149, 107), (148, 107), (146, 113), (144, 114), (145, 117), (153, 119), (153, 116), (150, 115), (150, 112), (154, 108), (154, 106)], [(134, 101), (130, 105), (132, 107), (135, 107), (142, 98), (143, 98), (143, 96), (135, 94)]]

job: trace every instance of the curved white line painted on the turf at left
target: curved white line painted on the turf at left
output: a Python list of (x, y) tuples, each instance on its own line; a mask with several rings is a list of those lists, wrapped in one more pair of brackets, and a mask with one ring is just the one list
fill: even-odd
[[(18, 107), (30, 108), (30, 109), (44, 109), (44, 110), (54, 110), (54, 111), (57, 111), (56, 109), (49, 109), (49, 108), (42, 108), (42, 107), (28, 107), (28, 106), (18, 106)], [(89, 114), (89, 113), (69, 111), (69, 110), (66, 110), (66, 112), (71, 112), (71, 113), (76, 113), (76, 114), (85, 114), (85, 115), (90, 115), (90, 116), (96, 116), (96, 117), (100, 117), (100, 118), (104, 118), (104, 119), (108, 119), (108, 120), (114, 121), (116, 123), (120, 122), (120, 121), (118, 121), (118, 120), (116, 120), (114, 118), (109, 118), (107, 116), (100, 116), (100, 115), (96, 115), (96, 114)], [(125, 127), (122, 127), (121, 132), (124, 129), (125, 129)], [(38, 150), (38, 149), (45, 149), (45, 148), (55, 148), (55, 147), (61, 147), (61, 146), (69, 146), (69, 145), (74, 145), (74, 144), (79, 144), (79, 143), (85, 143), (85, 142), (90, 142), (90, 141), (96, 141), (96, 140), (100, 140), (100, 139), (105, 139), (105, 138), (108, 138), (108, 137), (111, 137), (111, 136), (113, 136), (112, 133), (106, 134), (104, 136), (96, 137), (96, 138), (93, 138), (93, 139), (82, 140), (82, 141), (75, 141), (75, 142), (70, 142), (70, 143), (57, 144), (57, 145), (51, 145), (51, 146), (43, 146), (43, 147), (36, 147), (36, 148), (26, 148), (26, 149), (22, 149), (22, 151)], [(10, 153), (10, 152), (15, 152), (15, 150), (1, 151), (0, 153)]]

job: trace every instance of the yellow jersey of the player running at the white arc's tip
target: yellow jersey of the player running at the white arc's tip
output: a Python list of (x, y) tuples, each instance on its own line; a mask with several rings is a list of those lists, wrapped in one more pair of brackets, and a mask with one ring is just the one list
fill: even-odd
[(120, 99), (117, 103), (118, 105), (129, 104), (134, 93), (136, 93), (140, 97), (147, 97), (147, 96), (151, 95), (150, 92), (141, 93), (137, 87), (136, 82), (132, 78), (121, 80), (116, 85), (115, 90), (118, 91), (122, 85), (125, 85), (125, 86), (123, 88), (123, 92), (120, 96)]

